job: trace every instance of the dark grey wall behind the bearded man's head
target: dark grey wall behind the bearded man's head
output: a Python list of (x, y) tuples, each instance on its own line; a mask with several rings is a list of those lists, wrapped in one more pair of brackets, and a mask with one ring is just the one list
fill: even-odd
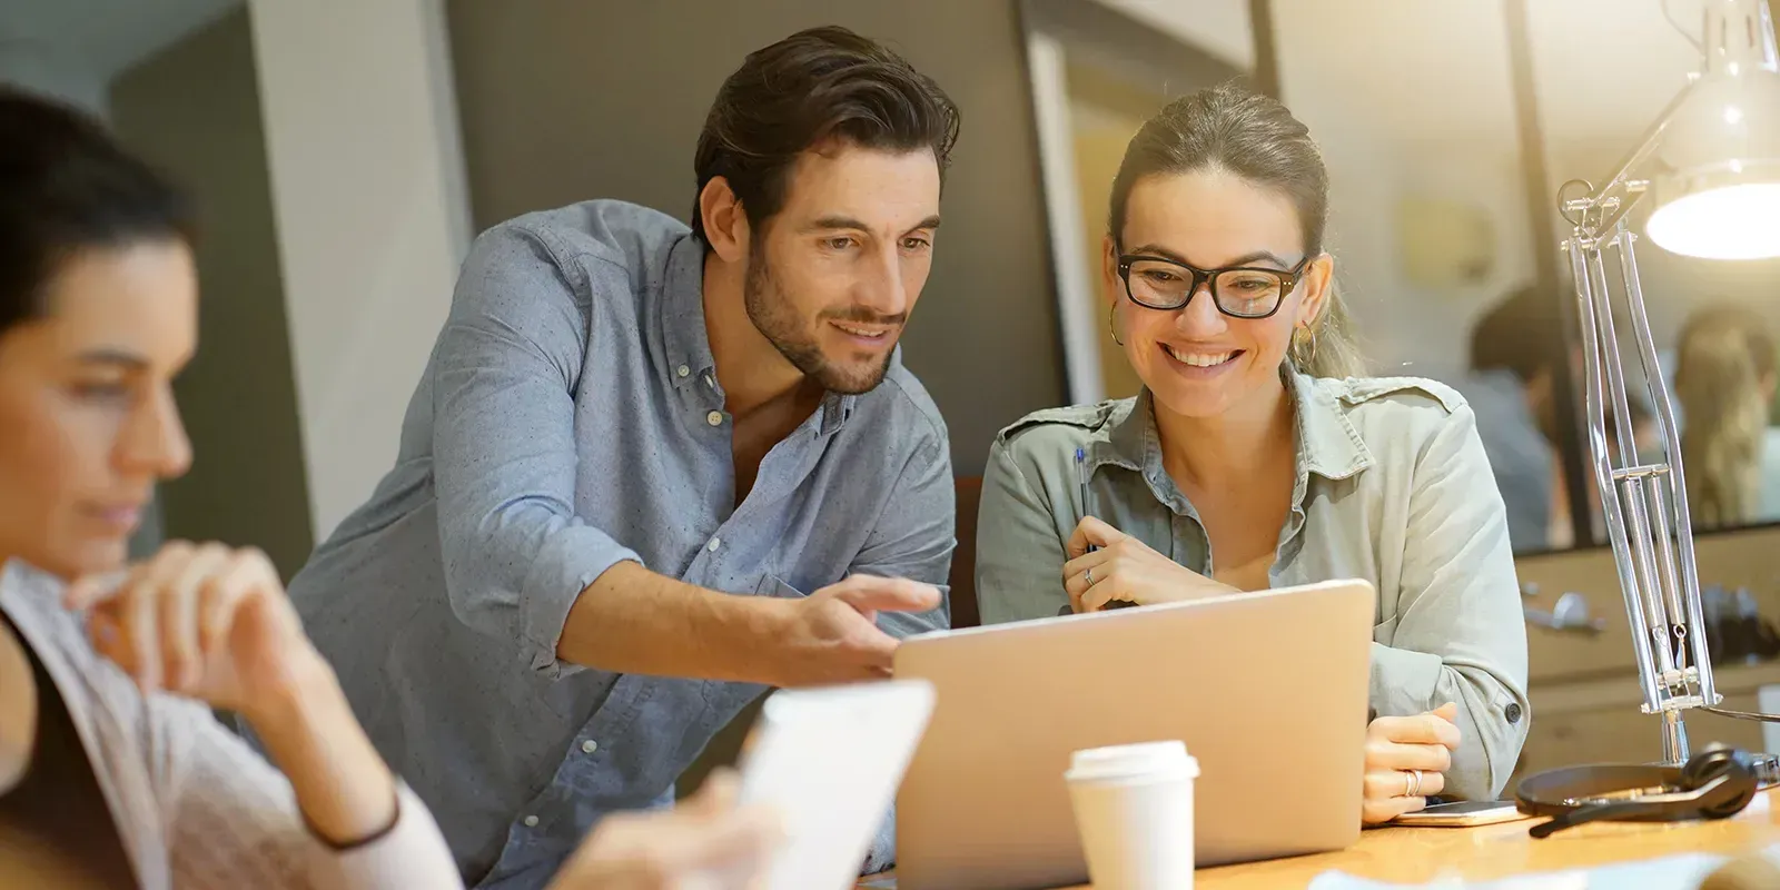
[(477, 230), (587, 198), (685, 219), (692, 146), (742, 57), (813, 25), (890, 43), (958, 101), (933, 278), (904, 361), (981, 475), (995, 431), (1061, 404), (1063, 363), (1015, 0), (450, 0)]

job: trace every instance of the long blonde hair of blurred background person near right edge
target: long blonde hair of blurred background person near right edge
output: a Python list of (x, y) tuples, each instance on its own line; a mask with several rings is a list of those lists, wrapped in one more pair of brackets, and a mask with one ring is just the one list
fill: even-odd
[(1680, 457), (1695, 527), (1755, 518), (1773, 370), (1773, 338), (1753, 312), (1714, 306), (1682, 328), (1675, 397), (1684, 411)]

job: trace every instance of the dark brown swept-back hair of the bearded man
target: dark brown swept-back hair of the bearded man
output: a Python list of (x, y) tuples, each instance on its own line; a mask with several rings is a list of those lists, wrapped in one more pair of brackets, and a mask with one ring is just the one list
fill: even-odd
[[(717, 89), (698, 135), (698, 192), (723, 176), (756, 231), (785, 205), (797, 155), (838, 141), (933, 150), (943, 182), (958, 107), (897, 53), (842, 27), (801, 30), (748, 55)], [(705, 221), (692, 199), (692, 233)], [(708, 239), (705, 239), (708, 244)]]

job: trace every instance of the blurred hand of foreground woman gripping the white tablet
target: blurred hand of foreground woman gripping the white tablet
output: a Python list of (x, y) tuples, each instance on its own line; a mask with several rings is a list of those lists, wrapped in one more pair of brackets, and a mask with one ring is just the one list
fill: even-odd
[(778, 828), (735, 808), (735, 778), (714, 773), (673, 810), (605, 817), (550, 890), (744, 890), (760, 886)]

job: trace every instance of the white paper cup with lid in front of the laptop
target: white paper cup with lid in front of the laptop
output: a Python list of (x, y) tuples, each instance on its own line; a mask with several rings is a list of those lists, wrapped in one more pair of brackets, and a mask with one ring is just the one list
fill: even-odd
[(1178, 740), (1075, 751), (1063, 778), (1095, 890), (1191, 890), (1198, 774)]

